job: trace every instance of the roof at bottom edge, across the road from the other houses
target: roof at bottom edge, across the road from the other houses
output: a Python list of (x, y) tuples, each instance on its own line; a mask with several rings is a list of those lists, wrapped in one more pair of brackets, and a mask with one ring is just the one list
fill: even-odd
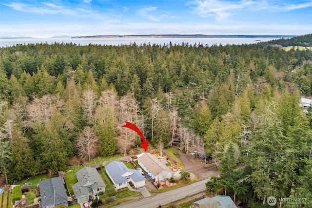
[(198, 205), (210, 205), (215, 208), (237, 208), (230, 196), (217, 195), (212, 198), (207, 197), (194, 202)]

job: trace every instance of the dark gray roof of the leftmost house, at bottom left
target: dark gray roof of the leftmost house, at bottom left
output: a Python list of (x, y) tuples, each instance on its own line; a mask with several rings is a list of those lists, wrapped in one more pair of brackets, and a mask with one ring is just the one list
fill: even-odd
[(39, 181), (42, 207), (67, 202), (67, 194), (61, 176)]

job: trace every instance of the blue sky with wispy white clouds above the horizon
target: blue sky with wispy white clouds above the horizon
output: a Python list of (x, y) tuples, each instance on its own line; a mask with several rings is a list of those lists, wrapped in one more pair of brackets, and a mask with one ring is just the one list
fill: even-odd
[(312, 0), (0, 0), (0, 36), (304, 35)]

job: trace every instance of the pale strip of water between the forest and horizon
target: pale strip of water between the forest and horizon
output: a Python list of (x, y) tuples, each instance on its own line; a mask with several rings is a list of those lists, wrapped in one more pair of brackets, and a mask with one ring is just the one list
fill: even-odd
[(276, 38), (26, 38), (26, 39), (0, 39), (0, 47), (13, 46), (17, 44), (28, 44), (28, 43), (73, 43), (77, 45), (128, 45), (132, 43), (148, 44), (151, 45), (161, 44), (167, 45), (170, 42), (175, 45), (181, 45), (189, 43), (194, 45), (195, 43), (202, 43), (203, 45), (227, 45), (227, 44), (251, 44), (259, 41), (269, 41)]

